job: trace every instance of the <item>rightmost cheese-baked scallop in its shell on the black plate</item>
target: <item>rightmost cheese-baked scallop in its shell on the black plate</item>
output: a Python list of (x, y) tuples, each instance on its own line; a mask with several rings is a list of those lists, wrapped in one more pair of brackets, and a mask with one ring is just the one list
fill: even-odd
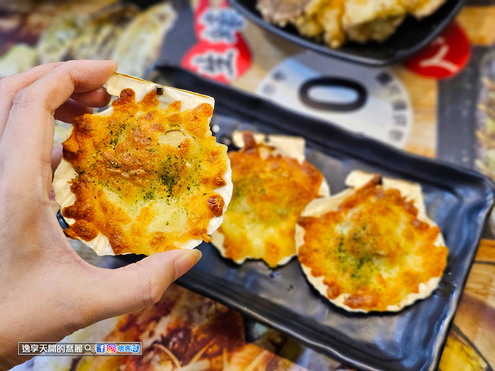
[(308, 281), (350, 312), (396, 312), (429, 296), (448, 249), (421, 186), (354, 171), (346, 190), (310, 202), (296, 226)]

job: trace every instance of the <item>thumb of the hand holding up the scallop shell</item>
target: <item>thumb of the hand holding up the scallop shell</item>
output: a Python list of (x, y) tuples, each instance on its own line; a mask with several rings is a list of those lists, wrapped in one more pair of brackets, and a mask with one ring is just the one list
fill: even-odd
[[(128, 266), (101, 269), (85, 313), (90, 323), (133, 313), (156, 303), (167, 287), (189, 271), (201, 257), (199, 250), (170, 250)], [(86, 321), (85, 321), (86, 322)]]

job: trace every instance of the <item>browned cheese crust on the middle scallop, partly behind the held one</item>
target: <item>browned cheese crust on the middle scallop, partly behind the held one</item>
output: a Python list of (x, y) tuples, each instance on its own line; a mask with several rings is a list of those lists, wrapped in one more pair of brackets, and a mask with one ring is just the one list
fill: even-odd
[[(244, 135), (244, 148), (229, 151), (234, 191), (223, 224), (225, 256), (234, 261), (263, 259), (276, 267), (296, 253), (297, 218), (318, 197), (322, 174), (307, 161), (276, 154)], [(266, 158), (260, 150), (269, 151)]]

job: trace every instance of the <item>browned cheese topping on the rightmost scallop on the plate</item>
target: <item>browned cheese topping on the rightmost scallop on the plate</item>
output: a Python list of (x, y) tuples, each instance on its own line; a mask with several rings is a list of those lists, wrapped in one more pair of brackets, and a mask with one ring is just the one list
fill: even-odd
[(418, 220), (412, 201), (384, 190), (379, 179), (337, 211), (297, 222), (304, 229), (300, 263), (323, 277), (329, 299), (348, 294), (344, 304), (351, 309), (386, 311), (446, 267), (448, 249), (434, 244), (440, 229)]

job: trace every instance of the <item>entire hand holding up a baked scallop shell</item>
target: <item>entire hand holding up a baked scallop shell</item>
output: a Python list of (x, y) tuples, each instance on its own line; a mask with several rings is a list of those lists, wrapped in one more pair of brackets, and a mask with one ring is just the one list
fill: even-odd
[(0, 370), (28, 359), (19, 341), (59, 341), (105, 318), (139, 311), (201, 256), (172, 250), (116, 270), (72, 249), (50, 206), (53, 119), (105, 106), (117, 65), (69, 61), (0, 80)]

